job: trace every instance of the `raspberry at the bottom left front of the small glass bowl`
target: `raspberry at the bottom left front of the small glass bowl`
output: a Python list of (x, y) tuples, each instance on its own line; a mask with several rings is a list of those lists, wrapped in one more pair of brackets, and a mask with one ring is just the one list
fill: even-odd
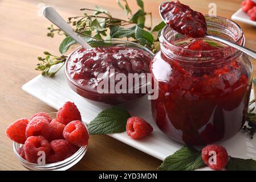
[(40, 155), (38, 155), (38, 152), (43, 151), (47, 156), (50, 150), (50, 144), (42, 136), (29, 137), (27, 138), (24, 145), (26, 160), (35, 164), (38, 163), (38, 158), (40, 157)]

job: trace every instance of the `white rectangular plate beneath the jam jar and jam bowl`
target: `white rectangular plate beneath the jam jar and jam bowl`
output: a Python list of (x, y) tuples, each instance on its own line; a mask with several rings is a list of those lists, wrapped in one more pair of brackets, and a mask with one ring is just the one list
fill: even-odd
[[(83, 122), (86, 124), (90, 123), (101, 110), (110, 107), (108, 105), (92, 104), (71, 90), (64, 77), (63, 69), (54, 78), (39, 75), (23, 85), (22, 89), (57, 110), (66, 101), (75, 102), (82, 114)], [(251, 98), (254, 98), (253, 92)], [(151, 103), (148, 97), (144, 97), (136, 103), (127, 104), (125, 107), (131, 115), (139, 116), (151, 123), (154, 128), (153, 134), (138, 141), (129, 138), (126, 133), (109, 136), (160, 160), (164, 160), (166, 156), (172, 155), (182, 147), (182, 144), (170, 140), (158, 129), (151, 115)], [(230, 140), (218, 144), (226, 147), (229, 155), (233, 157), (256, 159), (256, 139), (251, 140), (242, 131)]]

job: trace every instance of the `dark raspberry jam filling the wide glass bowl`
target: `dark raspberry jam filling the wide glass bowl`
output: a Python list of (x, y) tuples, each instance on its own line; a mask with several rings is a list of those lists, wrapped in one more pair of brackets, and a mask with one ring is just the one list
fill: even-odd
[(149, 72), (152, 53), (137, 44), (137, 47), (123, 45), (76, 49), (66, 64), (66, 76), (71, 88), (90, 100), (113, 105), (144, 96), (146, 93), (128, 93), (128, 88), (127, 93), (116, 93), (113, 89), (120, 82), (118, 79), (114, 80), (113, 89), (109, 86), (107, 93), (99, 93), (97, 90), (101, 82), (108, 82), (119, 73), (126, 76), (128, 85), (130, 73), (140, 75)]

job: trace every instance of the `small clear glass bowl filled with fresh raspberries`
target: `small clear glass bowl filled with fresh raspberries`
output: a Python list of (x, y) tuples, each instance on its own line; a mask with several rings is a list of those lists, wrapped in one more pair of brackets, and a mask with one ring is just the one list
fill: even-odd
[(80, 112), (66, 102), (57, 113), (36, 113), (11, 123), (6, 135), (19, 162), (30, 170), (63, 171), (86, 154), (89, 134)]

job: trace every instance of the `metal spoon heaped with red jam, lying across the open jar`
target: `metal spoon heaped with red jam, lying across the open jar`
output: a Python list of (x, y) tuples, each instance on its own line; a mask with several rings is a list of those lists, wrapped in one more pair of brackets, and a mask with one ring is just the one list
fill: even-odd
[(162, 20), (173, 30), (190, 38), (202, 38), (217, 40), (228, 46), (234, 47), (239, 51), (256, 59), (256, 52), (251, 49), (239, 46), (229, 40), (218, 36), (207, 34), (207, 23), (205, 16), (197, 11), (190, 9), (189, 6), (177, 2), (163, 2), (159, 6)]

